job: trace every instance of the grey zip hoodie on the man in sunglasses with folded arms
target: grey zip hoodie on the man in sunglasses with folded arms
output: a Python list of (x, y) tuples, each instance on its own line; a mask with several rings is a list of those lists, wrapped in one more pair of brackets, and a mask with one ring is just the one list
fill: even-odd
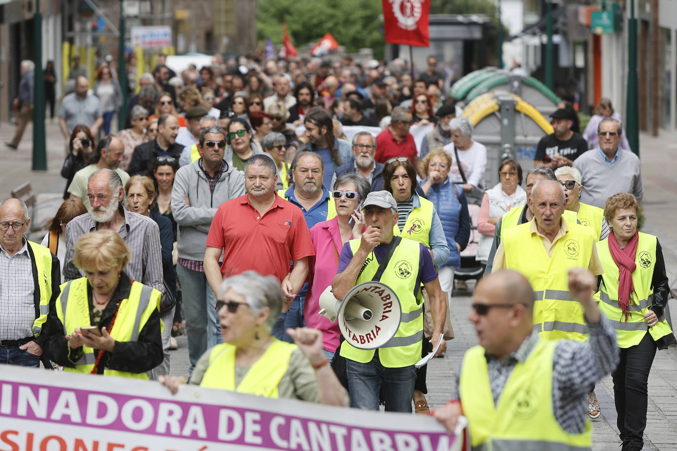
[[(200, 262), (204, 260), (207, 234), (216, 210), (223, 202), (246, 193), (244, 174), (228, 163), (212, 193), (200, 168), (201, 161), (202, 158), (177, 170), (171, 193), (171, 210), (179, 225), (179, 258)], [(183, 195), (188, 196), (190, 206), (185, 204)]]

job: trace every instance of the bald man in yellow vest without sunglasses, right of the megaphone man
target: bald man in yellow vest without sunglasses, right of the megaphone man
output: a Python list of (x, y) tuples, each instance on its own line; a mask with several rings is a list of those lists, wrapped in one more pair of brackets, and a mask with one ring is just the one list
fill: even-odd
[(572, 302), (567, 271), (588, 268), (594, 275), (602, 274), (594, 233), (563, 218), (565, 193), (559, 182), (536, 183), (527, 202), (533, 219), (504, 232), (493, 271), (515, 269), (529, 280), (536, 291), (533, 327), (545, 338), (584, 341), (583, 309)]

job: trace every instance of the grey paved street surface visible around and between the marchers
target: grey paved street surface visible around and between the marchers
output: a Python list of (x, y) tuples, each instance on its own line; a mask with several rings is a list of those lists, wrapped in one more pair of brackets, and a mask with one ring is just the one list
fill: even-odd
[[(30, 170), (30, 137), (32, 128), (28, 126), (18, 151), (12, 151), (2, 145), (12, 138), (12, 124), (0, 125), (0, 195), (9, 192), (26, 181), (32, 183), (37, 194), (39, 208), (37, 223), (51, 217), (60, 204), (65, 180), (59, 172), (64, 159), (64, 141), (55, 124), (47, 124), (47, 172)], [(642, 135), (641, 159), (642, 179), (645, 186), (644, 211), (647, 218), (643, 231), (658, 235), (671, 287), (677, 287), (677, 159), (670, 158), (677, 153), (677, 133), (661, 131), (658, 138)], [(31, 237), (40, 241), (42, 235)], [(477, 341), (471, 323), (466, 321), (471, 300), (468, 297), (454, 298), (452, 322), (456, 338), (448, 343), (444, 358), (433, 359), (429, 364), (428, 388), (429, 404), (439, 406), (446, 402), (454, 389), (453, 373), (458, 369), (465, 350)], [(673, 321), (677, 322), (677, 302), (670, 301)], [(175, 375), (183, 375), (188, 367), (188, 350), (185, 337), (179, 337), (179, 350), (171, 354), (172, 370)], [(611, 377), (603, 379), (596, 387), (596, 394), (602, 407), (602, 416), (593, 421), (592, 450), (617, 450), (617, 428), (615, 427), (615, 409), (613, 406), (613, 383)], [(659, 351), (654, 360), (649, 377), (649, 409), (647, 412), (645, 449), (677, 450), (677, 348)]]

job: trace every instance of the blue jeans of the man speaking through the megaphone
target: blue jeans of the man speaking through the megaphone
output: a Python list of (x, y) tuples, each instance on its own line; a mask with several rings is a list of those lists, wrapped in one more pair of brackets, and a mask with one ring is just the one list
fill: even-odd
[(378, 394), (383, 387), (386, 412), (412, 412), (416, 368), (386, 368), (378, 360), (378, 350), (367, 363), (346, 359), (350, 406), (378, 410)]

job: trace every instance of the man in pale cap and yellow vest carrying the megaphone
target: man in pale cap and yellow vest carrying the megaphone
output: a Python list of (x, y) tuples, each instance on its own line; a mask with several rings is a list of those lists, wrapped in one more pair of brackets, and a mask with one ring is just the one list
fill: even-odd
[[(385, 410), (411, 412), (416, 369), (423, 337), (423, 301), (421, 283), (428, 291), (435, 327), (433, 343), (442, 333), (447, 304), (437, 279), (430, 251), (422, 243), (393, 237), (397, 224), (397, 203), (388, 191), (369, 193), (362, 206), (367, 226), (362, 238), (343, 245), (339, 269), (332, 281), (336, 299), (345, 296), (359, 283), (378, 280), (394, 291), (401, 313), (394, 337), (378, 348), (353, 337), (341, 343), (340, 355), (347, 360), (351, 407), (378, 410), (378, 394), (383, 386)], [(344, 301), (345, 302), (345, 301)], [(387, 311), (383, 311), (387, 322)], [(339, 321), (342, 321), (339, 318)], [(374, 337), (374, 331), (368, 331)], [(378, 335), (375, 337), (378, 339)], [(378, 341), (377, 341), (378, 342)], [(443, 341), (435, 355), (445, 352)]]

